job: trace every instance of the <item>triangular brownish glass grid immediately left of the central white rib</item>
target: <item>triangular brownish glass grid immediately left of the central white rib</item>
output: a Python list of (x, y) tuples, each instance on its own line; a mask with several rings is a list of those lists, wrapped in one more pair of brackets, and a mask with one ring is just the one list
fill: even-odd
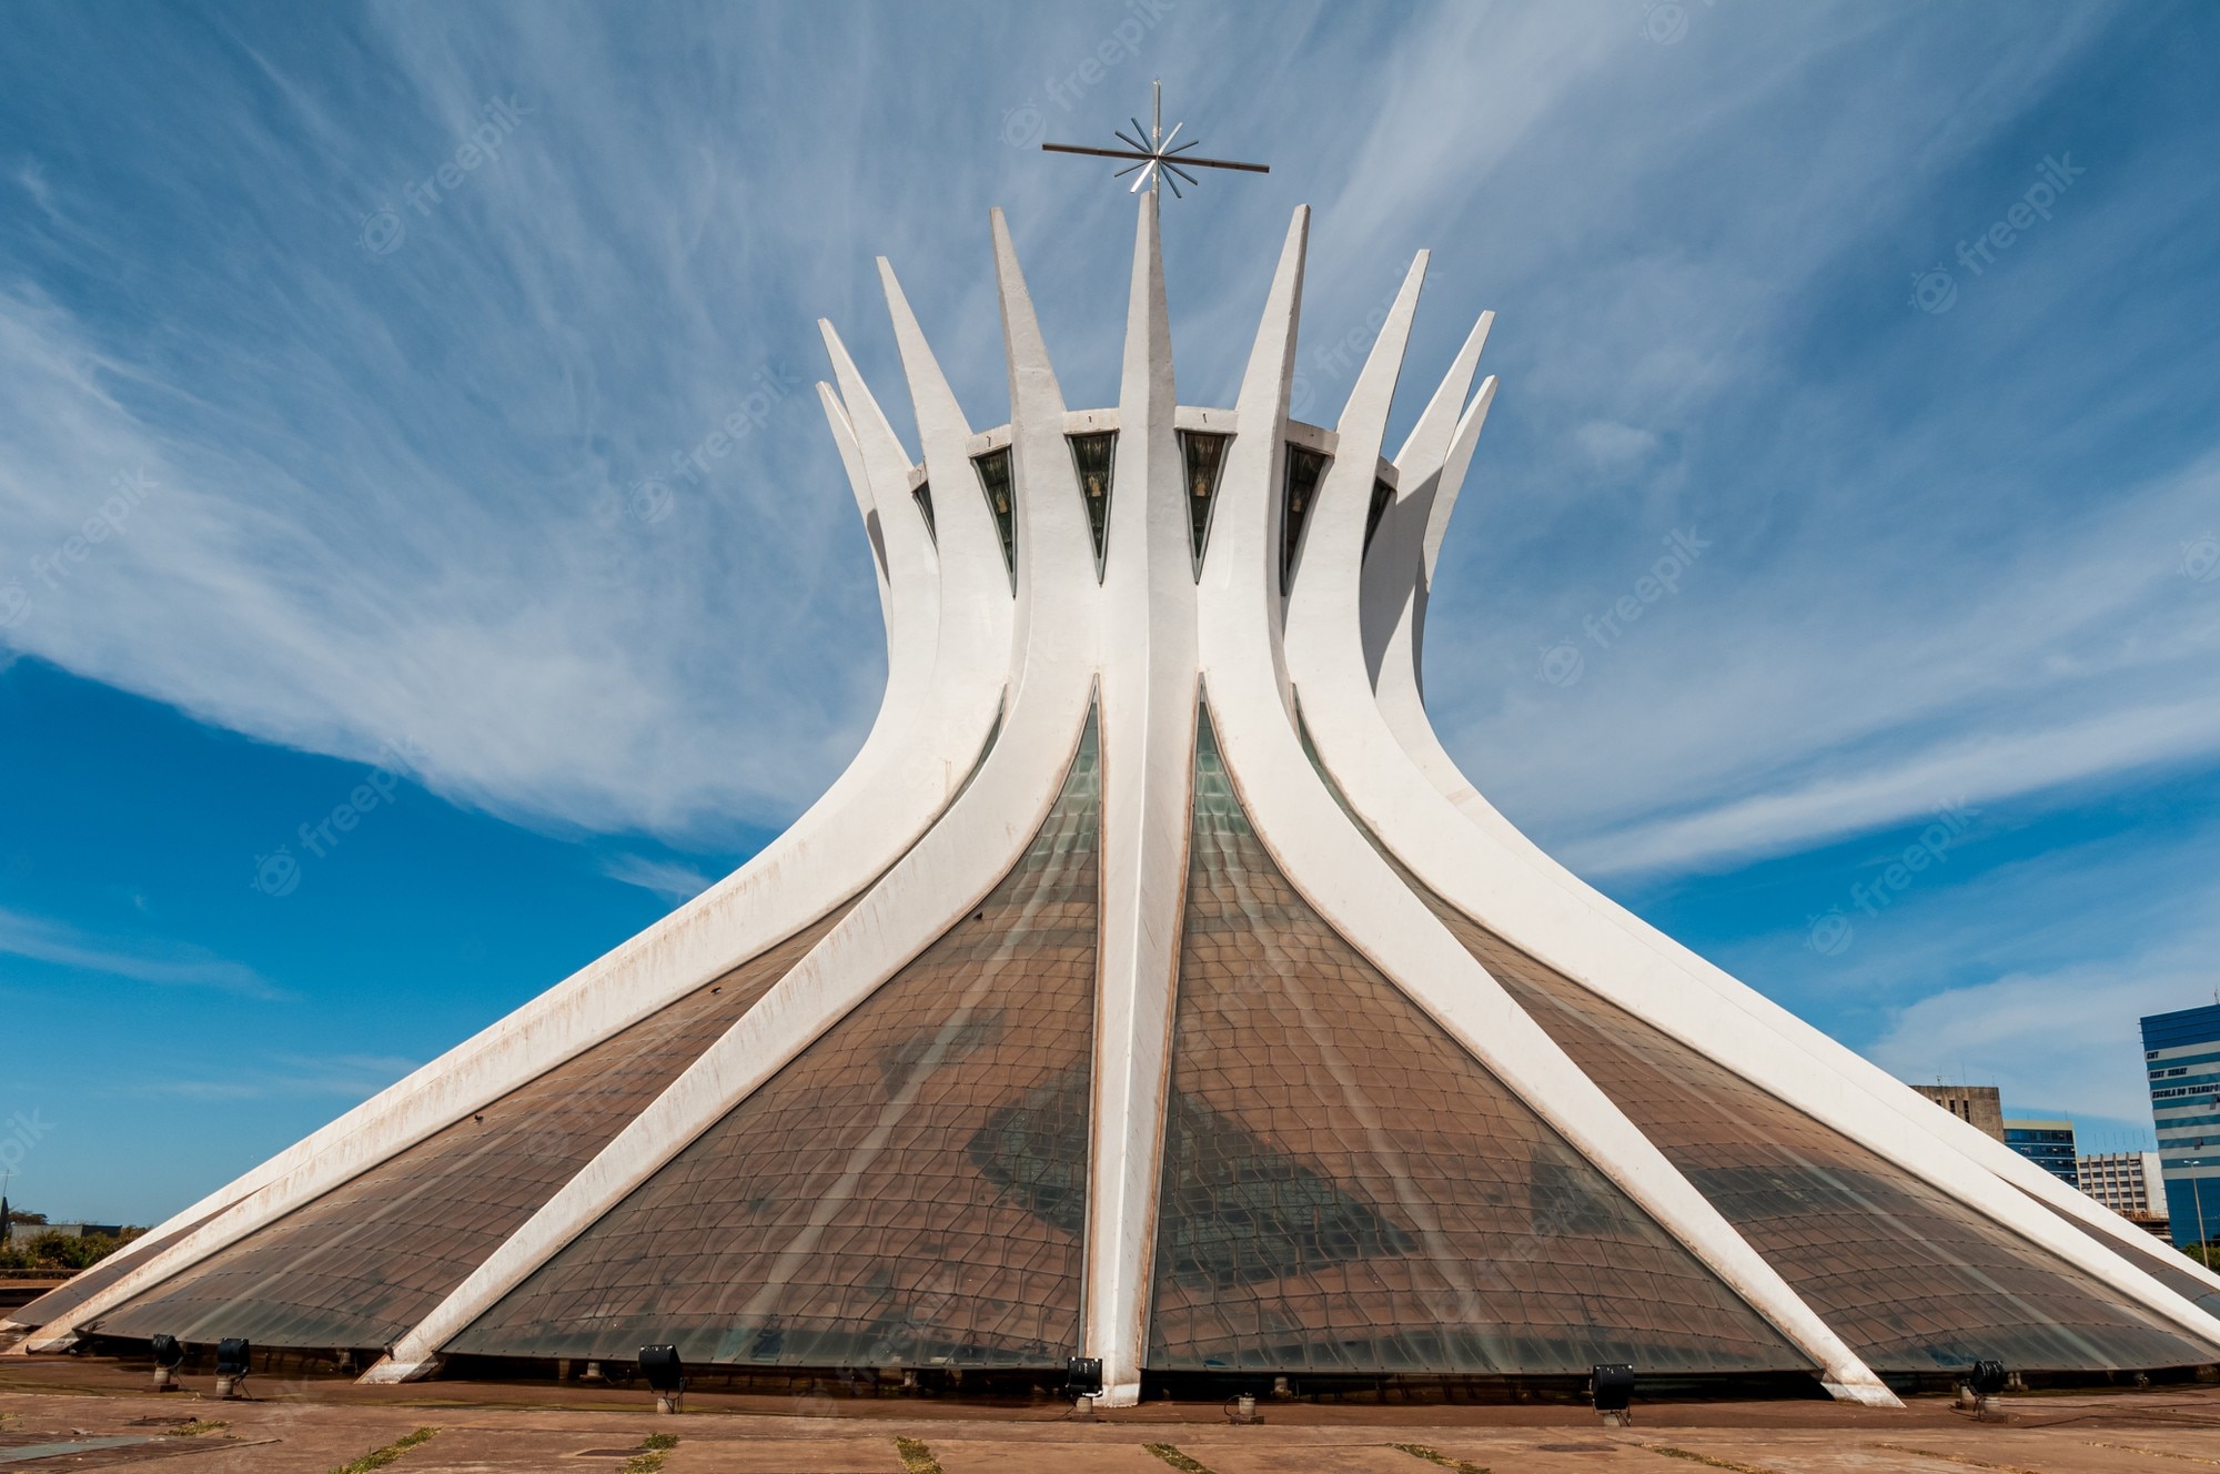
[(1097, 848), (1090, 719), (975, 915), (448, 1350), (1061, 1367), (1079, 1347)]

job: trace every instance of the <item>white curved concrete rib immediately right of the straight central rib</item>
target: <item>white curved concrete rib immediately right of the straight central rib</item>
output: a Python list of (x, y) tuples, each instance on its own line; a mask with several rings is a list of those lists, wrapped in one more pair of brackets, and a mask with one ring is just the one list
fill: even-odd
[[(1237, 406), (1243, 433), (1234, 440), (1214, 511), (1214, 568), (1203, 571), (1199, 590), (1201, 657), (1210, 708), (1225, 753), (1228, 773), (1248, 808), (1257, 837), (1279, 861), (1288, 881), (1352, 946), (1356, 946), (1419, 1008), (1441, 1023), (1474, 1059), (1487, 1066), (1521, 1101), (1563, 1134), (1574, 1150), (1601, 1168), (1634, 1203), (1718, 1274), (1743, 1301), (1769, 1321), (1794, 1347), (1809, 1356), (1829, 1392), (1876, 1405), (1896, 1396), (1874, 1372), (1789, 1290), (1696, 1188), (1643, 1137), (1572, 1059), (1536, 1026), (1470, 952), (1419, 901), (1388, 861), (1372, 855), (1350, 819), (1310, 768), (1294, 726), (1272, 682), (1279, 644), (1274, 608), (1259, 590), (1272, 588), (1263, 564), (1276, 546), (1272, 488), (1279, 484), (1288, 420), (1288, 384), (1294, 371), (1294, 320), (1301, 302), (1301, 253), (1305, 213), (1288, 233), (1279, 275), (1265, 309), (1257, 346)], [(1423, 264), (1423, 262), (1421, 262)], [(1394, 364), (1410, 331), (1419, 269), (1405, 282), (1388, 329), (1359, 377), (1352, 415), (1345, 417), (1336, 466), (1354, 468), (1341, 479), (1368, 497), (1385, 408), (1394, 391)], [(1381, 368), (1385, 364), (1385, 368)], [(1368, 382), (1370, 380), (1370, 382)], [(1385, 382), (1383, 382), (1385, 380)], [(1268, 431), (1259, 435), (1257, 431)], [(1332, 471), (1328, 473), (1332, 477)], [(1361, 477), (1361, 484), (1359, 484)], [(1321, 499), (1312, 511), (1328, 511)], [(1363, 537), (1365, 504), (1356, 504), (1356, 537)], [(1263, 575), (1263, 577), (1259, 577)], [(1303, 571), (1299, 586), (1316, 577)], [(1350, 630), (1354, 628), (1356, 568), (1348, 571)], [(1359, 648), (1361, 659), (1361, 648)], [(1370, 693), (1368, 693), (1370, 704)]]

